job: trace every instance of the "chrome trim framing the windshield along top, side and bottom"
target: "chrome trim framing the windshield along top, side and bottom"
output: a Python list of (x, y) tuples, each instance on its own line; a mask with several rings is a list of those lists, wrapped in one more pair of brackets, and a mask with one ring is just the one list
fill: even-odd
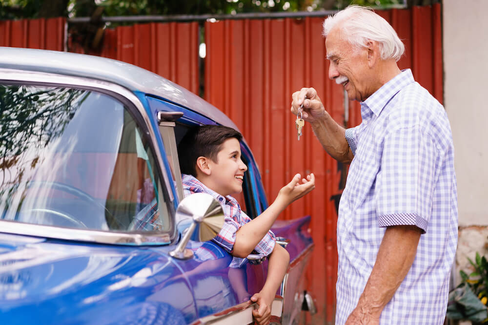
[[(49, 81), (46, 81), (49, 80)], [(113, 96), (122, 102), (130, 102), (136, 107), (144, 123), (146, 123), (149, 132), (150, 141), (154, 149), (154, 154), (158, 161), (161, 176), (163, 177), (164, 186), (168, 194), (169, 202), (166, 205), (170, 217), (172, 217), (173, 225), (175, 225), (175, 211), (173, 202), (175, 197), (171, 191), (171, 185), (168, 179), (168, 173), (163, 164), (163, 158), (156, 141), (156, 134), (151, 125), (149, 116), (147, 115), (141, 101), (130, 90), (108, 82), (97, 79), (89, 79), (80, 76), (64, 76), (54, 73), (37, 72), (37, 71), (19, 71), (15, 69), (0, 68), (0, 81), (3, 83), (19, 83), (24, 82), (38, 86), (62, 86), (74, 87), (80, 89), (94, 90), (101, 93)], [(12, 224), (18, 224), (18, 227)], [(3, 226), (5, 225), (5, 226)], [(45, 225), (25, 224), (18, 222), (11, 222), (7, 220), (0, 220), (0, 231), (11, 232), (16, 234), (25, 234), (37, 237), (60, 238), (68, 240), (79, 240), (84, 242), (96, 242), (103, 244), (125, 244), (125, 245), (167, 245), (170, 243), (170, 233), (161, 232), (106, 232), (102, 230), (84, 230), (64, 227), (54, 227)], [(173, 228), (174, 233), (174, 228)]]

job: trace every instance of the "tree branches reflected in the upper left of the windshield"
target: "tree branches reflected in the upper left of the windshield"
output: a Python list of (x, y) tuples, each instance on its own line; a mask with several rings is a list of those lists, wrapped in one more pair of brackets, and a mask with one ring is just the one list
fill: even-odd
[[(82, 95), (73, 89), (0, 86), (0, 187), (19, 183), (35, 167), (40, 157), (32, 153), (62, 134)], [(17, 171), (7, 172), (12, 166)]]

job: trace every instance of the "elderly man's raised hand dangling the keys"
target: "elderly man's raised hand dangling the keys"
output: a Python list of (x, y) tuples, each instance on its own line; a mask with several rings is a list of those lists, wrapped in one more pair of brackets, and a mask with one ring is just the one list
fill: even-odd
[(298, 114), (298, 108), (303, 104), (303, 119), (312, 123), (326, 114), (324, 105), (313, 88), (302, 88), (291, 95), (291, 113)]

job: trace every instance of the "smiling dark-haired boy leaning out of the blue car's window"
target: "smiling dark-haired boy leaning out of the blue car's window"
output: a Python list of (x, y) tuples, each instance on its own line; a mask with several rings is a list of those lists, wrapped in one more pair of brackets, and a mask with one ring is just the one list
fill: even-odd
[(251, 220), (230, 194), (240, 193), (247, 166), (241, 160), (239, 141), (242, 134), (232, 128), (204, 125), (191, 129), (178, 147), (185, 195), (195, 192), (211, 194), (224, 208), (224, 227), (213, 239), (234, 257), (231, 268), (243, 266), (246, 256), (269, 255), (268, 275), (263, 289), (251, 297), (259, 305), (253, 310), (258, 324), (267, 324), (271, 304), (288, 268), (290, 256), (286, 249), (275, 245), (269, 230), (278, 215), (296, 199), (315, 188), (315, 176), (308, 175), (300, 184), (300, 174), (283, 187), (275, 201)]

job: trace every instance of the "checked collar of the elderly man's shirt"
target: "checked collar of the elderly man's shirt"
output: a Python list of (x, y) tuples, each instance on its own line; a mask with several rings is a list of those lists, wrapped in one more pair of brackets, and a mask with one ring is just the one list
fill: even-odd
[(391, 98), (412, 82), (415, 82), (415, 80), (413, 79), (411, 70), (402, 70), (400, 74), (386, 82), (386, 84), (381, 86), (380, 89), (369, 96), (364, 102), (361, 102), (361, 114), (363, 115), (364, 108), (368, 108), (374, 115), (379, 116)]

